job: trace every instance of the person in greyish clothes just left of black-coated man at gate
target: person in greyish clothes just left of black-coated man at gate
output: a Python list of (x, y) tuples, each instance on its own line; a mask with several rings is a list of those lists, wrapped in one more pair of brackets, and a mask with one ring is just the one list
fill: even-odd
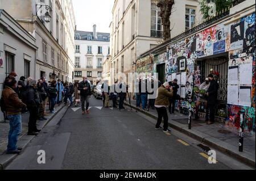
[(196, 101), (196, 115), (195, 115), (195, 119), (194, 120), (197, 120), (199, 119), (199, 106), (201, 103), (204, 103), (204, 106), (205, 106), (205, 109), (206, 109), (206, 116), (205, 116), (205, 121), (208, 121), (208, 106), (207, 106), (207, 97), (206, 97), (206, 93), (209, 89), (209, 86), (210, 86), (210, 83), (209, 83), (209, 79), (206, 78), (205, 79), (205, 82), (202, 83), (200, 86), (199, 86), (199, 90), (196, 90), (196, 94), (197, 94), (197, 101)]

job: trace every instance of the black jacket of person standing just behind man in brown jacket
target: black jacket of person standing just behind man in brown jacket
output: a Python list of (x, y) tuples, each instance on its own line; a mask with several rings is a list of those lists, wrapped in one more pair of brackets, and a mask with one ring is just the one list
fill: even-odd
[(40, 95), (34, 87), (28, 87), (27, 90), (27, 107), (28, 108), (39, 108), (40, 106)]

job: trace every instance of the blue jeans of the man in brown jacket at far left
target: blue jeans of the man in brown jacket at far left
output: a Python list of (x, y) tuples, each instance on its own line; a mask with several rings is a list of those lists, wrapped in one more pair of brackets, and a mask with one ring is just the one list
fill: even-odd
[(10, 121), (10, 131), (8, 137), (7, 152), (11, 153), (18, 149), (16, 145), (18, 142), (19, 134), (22, 130), (22, 116), (19, 115), (9, 115), (7, 118)]

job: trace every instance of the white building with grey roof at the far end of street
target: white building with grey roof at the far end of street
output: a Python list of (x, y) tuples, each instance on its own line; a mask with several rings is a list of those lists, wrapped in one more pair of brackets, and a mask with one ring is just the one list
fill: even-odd
[(110, 53), (109, 33), (75, 31), (75, 81), (87, 77), (92, 85), (102, 81), (103, 62)]

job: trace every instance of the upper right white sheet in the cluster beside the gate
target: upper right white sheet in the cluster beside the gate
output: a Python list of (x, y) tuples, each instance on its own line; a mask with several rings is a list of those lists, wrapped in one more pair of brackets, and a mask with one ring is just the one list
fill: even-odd
[(240, 65), (240, 74), (239, 74), (240, 85), (251, 85), (251, 82), (252, 82), (251, 75), (252, 74), (253, 74), (253, 65), (252, 64), (241, 64)]

